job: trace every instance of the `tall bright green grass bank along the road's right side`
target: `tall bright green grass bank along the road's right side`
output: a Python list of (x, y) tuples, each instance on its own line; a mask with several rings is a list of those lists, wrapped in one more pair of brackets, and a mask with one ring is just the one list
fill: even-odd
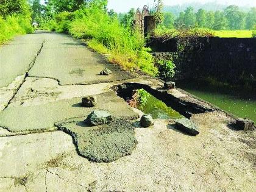
[(71, 14), (62, 12), (55, 16), (55, 22), (55, 30), (87, 40), (90, 48), (108, 54), (111, 63), (157, 75), (150, 49), (144, 48), (140, 34), (132, 32), (130, 26), (121, 26), (118, 18), (110, 17), (102, 7), (91, 3)]

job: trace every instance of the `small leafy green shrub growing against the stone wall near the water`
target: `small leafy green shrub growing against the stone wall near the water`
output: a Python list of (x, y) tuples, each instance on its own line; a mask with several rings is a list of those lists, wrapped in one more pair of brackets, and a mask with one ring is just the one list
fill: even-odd
[(175, 75), (176, 65), (171, 60), (157, 60), (159, 77), (163, 79), (172, 79)]

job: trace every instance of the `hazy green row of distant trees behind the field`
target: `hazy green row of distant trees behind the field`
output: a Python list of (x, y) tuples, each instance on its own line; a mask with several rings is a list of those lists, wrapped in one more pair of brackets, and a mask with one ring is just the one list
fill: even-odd
[(243, 12), (236, 5), (215, 12), (204, 9), (195, 12), (193, 7), (188, 7), (177, 17), (166, 12), (164, 18), (163, 26), (168, 29), (200, 27), (213, 30), (251, 30), (256, 27), (256, 7), (252, 7), (249, 12)]

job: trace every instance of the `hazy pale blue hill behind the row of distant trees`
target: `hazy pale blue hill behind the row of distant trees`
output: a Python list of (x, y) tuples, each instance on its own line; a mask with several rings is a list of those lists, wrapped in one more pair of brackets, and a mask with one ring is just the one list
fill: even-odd
[[(182, 4), (182, 5), (173, 5), (173, 6), (168, 6), (166, 5), (163, 10), (164, 12), (171, 12), (174, 15), (178, 16), (180, 12), (183, 12), (184, 10), (187, 9), (187, 7), (193, 7), (195, 11), (199, 9), (204, 9), (207, 11), (216, 11), (216, 10), (224, 10), (228, 5), (223, 5), (223, 4), (217, 4), (216, 2), (208, 2), (205, 4), (202, 4), (200, 2), (194, 2), (194, 3), (187, 3), (187, 4)], [(248, 11), (250, 7), (240, 7), (241, 10)]]

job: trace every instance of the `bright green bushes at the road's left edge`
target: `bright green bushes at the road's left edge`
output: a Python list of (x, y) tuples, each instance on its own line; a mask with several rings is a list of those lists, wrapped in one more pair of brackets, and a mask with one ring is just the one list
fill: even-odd
[(23, 15), (0, 16), (0, 44), (10, 40), (15, 35), (29, 34), (34, 31), (30, 18)]

